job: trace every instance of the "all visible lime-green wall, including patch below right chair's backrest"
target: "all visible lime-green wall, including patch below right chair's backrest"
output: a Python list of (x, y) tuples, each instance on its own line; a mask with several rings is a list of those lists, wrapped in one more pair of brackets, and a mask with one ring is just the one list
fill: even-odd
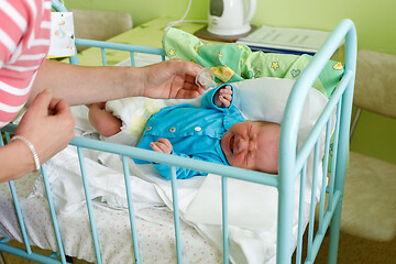
[[(127, 11), (134, 26), (157, 16), (178, 20), (188, 0), (64, 0), (67, 8)], [(193, 0), (186, 19), (206, 20), (208, 0)], [(359, 50), (396, 55), (395, 0), (257, 0), (254, 24), (331, 31), (351, 19), (358, 31)], [(396, 102), (395, 102), (396, 103)], [(351, 148), (396, 163), (396, 120), (362, 112)], [(373, 139), (374, 136), (374, 139)]]

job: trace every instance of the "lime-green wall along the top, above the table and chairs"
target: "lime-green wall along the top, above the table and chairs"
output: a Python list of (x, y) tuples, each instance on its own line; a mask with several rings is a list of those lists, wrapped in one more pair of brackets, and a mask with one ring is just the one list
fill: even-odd
[[(180, 19), (188, 0), (64, 0), (67, 8), (127, 11), (134, 25), (157, 16)], [(206, 20), (208, 0), (193, 0), (187, 19)], [(396, 54), (394, 0), (257, 0), (254, 24), (331, 31), (349, 18), (358, 29), (359, 48)]]

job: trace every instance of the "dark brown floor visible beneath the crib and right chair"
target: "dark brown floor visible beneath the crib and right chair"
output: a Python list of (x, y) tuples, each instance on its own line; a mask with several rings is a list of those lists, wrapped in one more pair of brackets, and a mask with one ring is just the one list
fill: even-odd
[[(15, 244), (15, 243), (14, 243)], [(327, 263), (327, 248), (329, 238), (326, 237), (318, 253), (316, 263)], [(40, 249), (34, 251), (45, 252)], [(48, 252), (47, 254), (50, 254)], [(34, 264), (10, 254), (3, 254), (6, 264)], [(75, 264), (88, 264), (85, 261), (74, 260)], [(0, 260), (1, 264), (1, 260)], [(396, 264), (396, 238), (389, 242), (375, 242), (360, 239), (341, 232), (338, 264)]]

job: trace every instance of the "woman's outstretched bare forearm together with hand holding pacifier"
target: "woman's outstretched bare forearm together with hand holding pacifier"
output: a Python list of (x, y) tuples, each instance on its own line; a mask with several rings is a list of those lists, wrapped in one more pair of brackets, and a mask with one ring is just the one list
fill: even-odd
[(28, 103), (42, 90), (69, 105), (88, 105), (119, 98), (195, 98), (204, 88), (195, 84), (201, 66), (169, 59), (146, 67), (77, 66), (45, 61), (40, 67)]

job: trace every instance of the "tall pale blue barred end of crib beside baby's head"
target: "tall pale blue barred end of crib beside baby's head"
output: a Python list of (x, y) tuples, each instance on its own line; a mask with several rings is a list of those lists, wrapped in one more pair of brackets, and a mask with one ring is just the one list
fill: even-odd
[[(315, 124), (307, 141), (296, 154), (297, 132), (300, 121), (305, 98), (308, 95), (309, 87), (324, 68), (326, 63), (331, 58), (342, 40), (345, 37), (345, 73), (340, 80), (334, 94), (331, 96), (327, 107)], [(339, 243), (341, 206), (344, 186), (344, 175), (346, 168), (349, 151), (349, 131), (352, 110), (352, 98), (354, 89), (354, 78), (356, 69), (356, 31), (351, 20), (341, 21), (332, 34), (326, 41), (323, 46), (315, 55), (312, 62), (296, 80), (287, 101), (286, 110), (282, 121), (280, 131), (280, 153), (279, 153), (279, 178), (278, 178), (278, 230), (277, 230), (277, 263), (290, 262), (290, 237), (293, 219), (293, 194), (294, 186), (290, 184), (297, 176), (301, 175), (301, 183), (306, 178), (306, 166), (309, 153), (315, 150), (314, 157), (314, 179), (312, 186), (317, 183), (317, 170), (319, 163), (320, 133), (326, 129), (326, 144), (323, 157), (323, 175), (328, 172), (328, 157), (330, 153), (330, 127), (331, 116), (336, 110), (336, 131), (333, 134), (333, 147), (331, 160), (331, 173), (329, 186), (326, 186), (326, 177), (322, 178), (322, 188), (320, 191), (320, 209), (318, 219), (318, 232), (314, 238), (315, 222), (315, 197), (316, 188), (311, 193), (311, 208), (308, 229), (308, 249), (305, 263), (312, 263), (319, 251), (324, 233), (331, 222), (329, 263), (337, 263), (337, 252)], [(294, 182), (293, 182), (294, 183)], [(304, 197), (301, 186), (300, 201)], [(326, 193), (328, 193), (328, 207), (324, 212)], [(299, 207), (299, 213), (302, 213), (302, 206)], [(282, 227), (282, 228), (279, 228)], [(300, 263), (302, 244), (302, 224), (299, 218), (298, 224), (298, 244), (297, 260)]]

